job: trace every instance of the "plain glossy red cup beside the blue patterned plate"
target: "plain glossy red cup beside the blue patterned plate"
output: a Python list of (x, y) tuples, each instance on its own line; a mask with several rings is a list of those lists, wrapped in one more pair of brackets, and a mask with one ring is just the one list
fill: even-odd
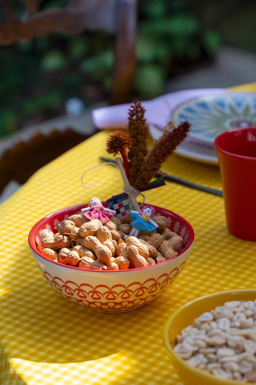
[(223, 132), (216, 148), (228, 231), (256, 241), (256, 127)]

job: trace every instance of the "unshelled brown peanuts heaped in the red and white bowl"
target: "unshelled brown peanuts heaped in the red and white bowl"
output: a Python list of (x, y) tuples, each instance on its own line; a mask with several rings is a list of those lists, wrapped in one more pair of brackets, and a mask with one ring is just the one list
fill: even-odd
[(38, 234), (38, 251), (66, 265), (91, 270), (141, 268), (166, 261), (178, 254), (183, 239), (168, 229), (167, 218), (153, 218), (158, 229), (129, 236), (131, 218), (112, 217), (102, 224), (83, 214), (73, 214), (57, 226), (57, 234), (48, 229)]

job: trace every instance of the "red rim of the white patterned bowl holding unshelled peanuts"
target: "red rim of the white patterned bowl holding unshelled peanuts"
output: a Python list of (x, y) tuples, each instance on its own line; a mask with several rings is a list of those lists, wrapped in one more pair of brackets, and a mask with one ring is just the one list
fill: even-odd
[[(106, 203), (105, 201), (102, 202), (102, 204), (104, 205), (104, 203)], [(48, 262), (51, 262), (53, 264), (57, 264), (58, 266), (64, 266), (65, 268), (71, 268), (71, 269), (76, 269), (78, 271), (90, 271), (90, 272), (95, 272), (95, 273), (99, 273), (99, 272), (102, 272), (102, 273), (121, 273), (121, 272), (127, 272), (127, 271), (138, 271), (138, 270), (143, 270), (143, 269), (148, 269), (148, 268), (153, 268), (155, 265), (150, 265), (150, 266), (145, 266), (145, 267), (140, 267), (140, 268), (135, 268), (135, 269), (124, 269), (124, 270), (90, 270), (90, 269), (80, 269), (76, 266), (70, 266), (70, 265), (66, 265), (66, 264), (63, 264), (63, 263), (60, 263), (60, 262), (55, 262), (55, 261), (52, 261), (52, 259), (49, 259), (47, 257), (45, 257), (43, 254), (40, 253), (40, 251), (38, 251), (37, 247), (35, 246), (35, 243), (33, 242), (33, 235), (36, 231), (36, 229), (38, 228), (38, 226), (40, 226), (40, 224), (45, 221), (45, 219), (47, 218), (50, 218), (52, 217), (53, 215), (57, 215), (58, 214), (62, 214), (62, 213), (65, 213), (65, 211), (67, 210), (71, 210), (73, 209), (74, 212), (77, 211), (77, 208), (78, 206), (81, 206), (83, 205), (84, 207), (86, 205), (88, 205), (87, 203), (83, 204), (83, 203), (79, 203), (79, 204), (76, 204), (74, 206), (68, 206), (68, 207), (65, 207), (63, 209), (60, 209), (60, 210), (57, 210), (57, 211), (53, 211), (53, 213), (50, 213), (46, 216), (44, 216), (42, 219), (40, 219), (39, 221), (37, 221), (37, 223), (34, 224), (34, 226), (32, 227), (32, 229), (30, 230), (29, 234), (28, 234), (28, 244), (30, 246), (30, 248), (38, 255), (40, 256), (41, 258), (45, 259), (46, 261)], [(146, 206), (146, 204), (144, 204), (143, 206)], [(142, 207), (143, 207), (142, 206)], [(160, 262), (160, 263), (157, 263), (157, 265), (160, 265), (160, 264), (163, 264), (163, 263), (168, 263), (169, 261), (172, 261), (173, 259), (176, 259), (178, 258), (181, 254), (183, 254), (185, 251), (187, 251), (194, 243), (194, 230), (191, 226), (191, 224), (185, 219), (183, 218), (181, 215), (179, 214), (176, 214), (174, 211), (171, 211), (169, 209), (165, 209), (163, 207), (160, 207), (160, 206), (155, 206), (153, 204), (150, 204), (150, 206), (152, 206), (153, 208), (155, 209), (164, 209), (166, 211), (168, 211), (169, 213), (171, 214), (175, 214), (175, 216), (177, 216), (178, 218), (182, 219), (186, 225), (188, 226), (188, 229), (189, 229), (189, 232), (190, 232), (190, 241), (189, 243), (187, 244), (187, 246), (182, 250), (180, 251), (180, 253), (178, 253), (177, 255), (175, 255), (174, 257), (170, 258), (170, 259), (167, 259), (166, 261), (163, 261), (163, 262)]]

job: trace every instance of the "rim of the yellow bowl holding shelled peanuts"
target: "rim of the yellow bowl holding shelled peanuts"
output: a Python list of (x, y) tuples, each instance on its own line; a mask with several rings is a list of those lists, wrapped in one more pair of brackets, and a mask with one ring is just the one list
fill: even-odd
[(240, 294), (240, 293), (243, 294), (243, 293), (252, 293), (252, 292), (255, 292), (255, 298), (256, 298), (256, 289), (223, 290), (223, 291), (218, 291), (216, 293), (212, 293), (212, 294), (208, 294), (208, 295), (204, 295), (204, 296), (198, 297), (198, 298), (196, 298), (196, 299), (194, 299), (192, 301), (189, 301), (189, 302), (185, 303), (185, 305), (180, 306), (180, 308), (175, 310), (167, 318), (167, 320), (166, 320), (166, 322), (164, 324), (162, 338), (163, 338), (163, 344), (165, 346), (165, 349), (168, 351), (168, 353), (171, 355), (171, 357), (176, 362), (178, 362), (183, 368), (189, 370), (190, 372), (193, 372), (198, 377), (201, 377), (204, 380), (210, 380), (211, 382), (215, 381), (216, 384), (221, 381), (221, 383), (227, 384), (227, 385), (240, 385), (240, 384), (241, 385), (242, 384), (244, 384), (244, 385), (248, 384), (249, 385), (249, 384), (251, 384), (250, 382), (241, 382), (241, 381), (236, 381), (236, 380), (226, 380), (225, 378), (214, 376), (211, 373), (205, 372), (204, 370), (198, 369), (197, 367), (195, 367), (193, 365), (190, 365), (185, 360), (183, 360), (183, 358), (181, 358), (173, 350), (173, 347), (171, 346), (171, 343), (170, 343), (170, 340), (169, 340), (168, 332), (169, 332), (169, 328), (170, 328), (170, 325), (171, 325), (171, 322), (173, 321), (173, 319), (176, 318), (176, 316), (178, 316), (179, 313), (182, 313), (182, 311), (185, 308), (189, 307), (190, 305), (192, 305), (194, 303), (199, 302), (200, 300), (207, 300), (207, 299), (210, 300), (213, 297), (221, 296), (221, 295), (224, 295), (226, 293), (228, 293), (228, 294)]

